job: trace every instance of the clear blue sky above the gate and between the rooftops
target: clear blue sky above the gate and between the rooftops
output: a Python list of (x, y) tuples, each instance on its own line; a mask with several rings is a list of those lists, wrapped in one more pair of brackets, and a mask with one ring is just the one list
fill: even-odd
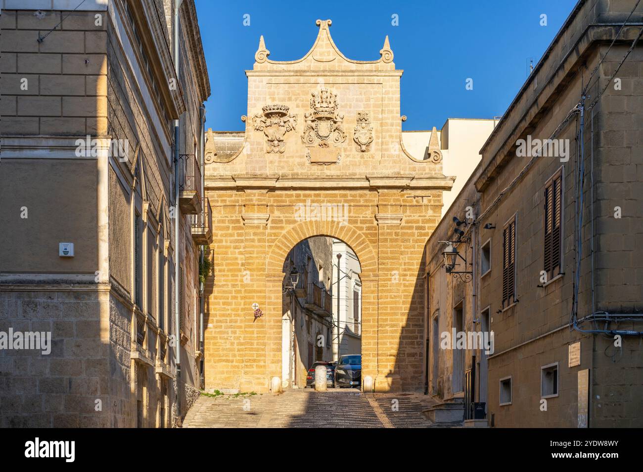
[[(377, 60), (388, 35), (401, 78), (405, 130), (440, 128), (447, 118), (501, 116), (547, 49), (575, 0), (228, 1), (195, 0), (212, 95), (206, 128), (243, 130), (248, 80), (259, 36), (271, 60), (311, 48), (315, 20), (354, 60)], [(541, 14), (547, 26), (541, 26)], [(244, 15), (249, 26), (244, 26)], [(398, 26), (392, 24), (397, 15)], [(466, 90), (473, 78), (473, 90)]]

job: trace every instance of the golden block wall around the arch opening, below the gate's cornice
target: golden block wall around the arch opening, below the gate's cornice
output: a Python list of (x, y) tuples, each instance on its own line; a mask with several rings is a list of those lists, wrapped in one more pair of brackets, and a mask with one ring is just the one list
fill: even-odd
[[(207, 388), (266, 391), (269, 378), (280, 376), (285, 257), (296, 243), (317, 235), (347, 242), (359, 258), (364, 374), (377, 377), (382, 389), (419, 388), (424, 336), (420, 272), (424, 243), (439, 214), (434, 200), (423, 204), (401, 191), (348, 196), (341, 191), (269, 192), (260, 200), (252, 197), (251, 205), (234, 202), (229, 192), (210, 191), (208, 197), (215, 222), (215, 281), (206, 311)], [(298, 222), (295, 205), (307, 199), (348, 204), (348, 224)], [(401, 224), (377, 224), (378, 200), (401, 208)], [(269, 213), (268, 222), (244, 224), (248, 207), (253, 213), (260, 213), (257, 207)], [(254, 302), (265, 313), (256, 322)]]

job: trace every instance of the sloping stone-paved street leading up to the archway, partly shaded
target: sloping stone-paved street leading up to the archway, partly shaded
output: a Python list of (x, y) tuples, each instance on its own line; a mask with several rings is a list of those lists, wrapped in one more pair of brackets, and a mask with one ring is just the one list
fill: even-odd
[(431, 428), (415, 394), (368, 394), (354, 389), (286, 390), (279, 395), (201, 396), (184, 428)]

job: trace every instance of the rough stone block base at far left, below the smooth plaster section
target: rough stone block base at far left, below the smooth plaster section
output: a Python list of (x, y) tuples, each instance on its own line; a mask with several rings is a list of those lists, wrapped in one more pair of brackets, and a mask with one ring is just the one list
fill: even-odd
[[(51, 352), (0, 351), (0, 426), (110, 426), (108, 292), (0, 291), (0, 331), (51, 333)], [(96, 410), (96, 401), (102, 410)]]

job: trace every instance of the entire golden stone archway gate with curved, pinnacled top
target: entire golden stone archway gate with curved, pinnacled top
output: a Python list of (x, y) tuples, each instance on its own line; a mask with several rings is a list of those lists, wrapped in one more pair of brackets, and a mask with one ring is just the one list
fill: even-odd
[(363, 376), (377, 391), (423, 388), (422, 252), (453, 177), (435, 144), (424, 159), (404, 148), (388, 37), (378, 60), (354, 61), (330, 20), (317, 25), (311, 50), (291, 62), (269, 60), (261, 37), (245, 132), (208, 132), (206, 389), (267, 392), (280, 376), (284, 261), (318, 235), (348, 243), (361, 264)]

